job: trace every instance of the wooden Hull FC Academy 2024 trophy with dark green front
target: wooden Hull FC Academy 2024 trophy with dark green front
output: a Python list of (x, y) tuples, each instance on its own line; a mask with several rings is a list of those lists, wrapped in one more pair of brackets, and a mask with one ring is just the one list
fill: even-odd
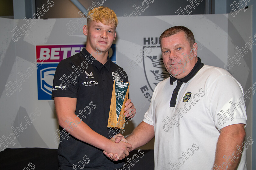
[(111, 104), (108, 116), (108, 127), (124, 128), (124, 104), (128, 99), (130, 83), (115, 81), (113, 85)]

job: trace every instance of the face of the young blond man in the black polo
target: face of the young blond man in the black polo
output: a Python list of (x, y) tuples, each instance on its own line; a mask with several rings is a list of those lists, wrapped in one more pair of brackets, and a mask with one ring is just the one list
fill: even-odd
[(96, 51), (107, 52), (116, 38), (114, 25), (105, 25), (101, 22), (90, 21), (84, 25), (84, 35), (87, 36), (86, 49), (89, 53)]

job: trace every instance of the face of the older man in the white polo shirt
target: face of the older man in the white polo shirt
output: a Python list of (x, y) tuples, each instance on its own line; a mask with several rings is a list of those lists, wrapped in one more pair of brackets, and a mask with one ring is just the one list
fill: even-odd
[(161, 51), (165, 68), (177, 79), (187, 76), (198, 60), (197, 44), (191, 49), (184, 32), (162, 38)]

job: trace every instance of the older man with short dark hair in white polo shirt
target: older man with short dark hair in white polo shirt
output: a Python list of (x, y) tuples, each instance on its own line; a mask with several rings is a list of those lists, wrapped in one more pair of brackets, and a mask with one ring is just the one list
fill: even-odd
[[(187, 27), (165, 30), (160, 41), (171, 77), (155, 87), (149, 109), (132, 134), (113, 140), (127, 141), (135, 149), (155, 136), (156, 170), (247, 169), (240, 83), (226, 70), (201, 63)], [(116, 154), (111, 159), (117, 160)]]

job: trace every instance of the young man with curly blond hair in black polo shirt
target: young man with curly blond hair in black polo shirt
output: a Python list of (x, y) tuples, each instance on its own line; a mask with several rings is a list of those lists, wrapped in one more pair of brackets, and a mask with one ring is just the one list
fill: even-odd
[[(113, 80), (128, 82), (124, 70), (108, 57), (118, 20), (107, 7), (92, 9), (89, 15), (83, 27), (86, 48), (62, 60), (53, 80), (53, 87), (58, 87), (52, 90), (52, 98), (61, 132), (61, 170), (119, 168), (123, 162), (109, 160), (102, 150), (118, 153), (121, 160), (129, 155), (127, 148), (132, 148), (131, 144), (109, 140), (107, 128)], [(130, 99), (125, 106), (126, 117), (133, 117), (136, 110)]]

